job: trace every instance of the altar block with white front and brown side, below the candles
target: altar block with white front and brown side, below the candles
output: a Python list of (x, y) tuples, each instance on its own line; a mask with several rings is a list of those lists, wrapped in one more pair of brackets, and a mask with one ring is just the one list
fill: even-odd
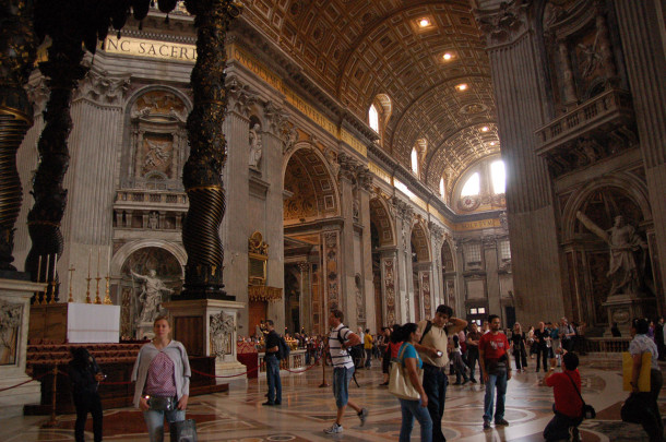
[(59, 302), (31, 307), (31, 343), (115, 344), (119, 339), (120, 306)]

